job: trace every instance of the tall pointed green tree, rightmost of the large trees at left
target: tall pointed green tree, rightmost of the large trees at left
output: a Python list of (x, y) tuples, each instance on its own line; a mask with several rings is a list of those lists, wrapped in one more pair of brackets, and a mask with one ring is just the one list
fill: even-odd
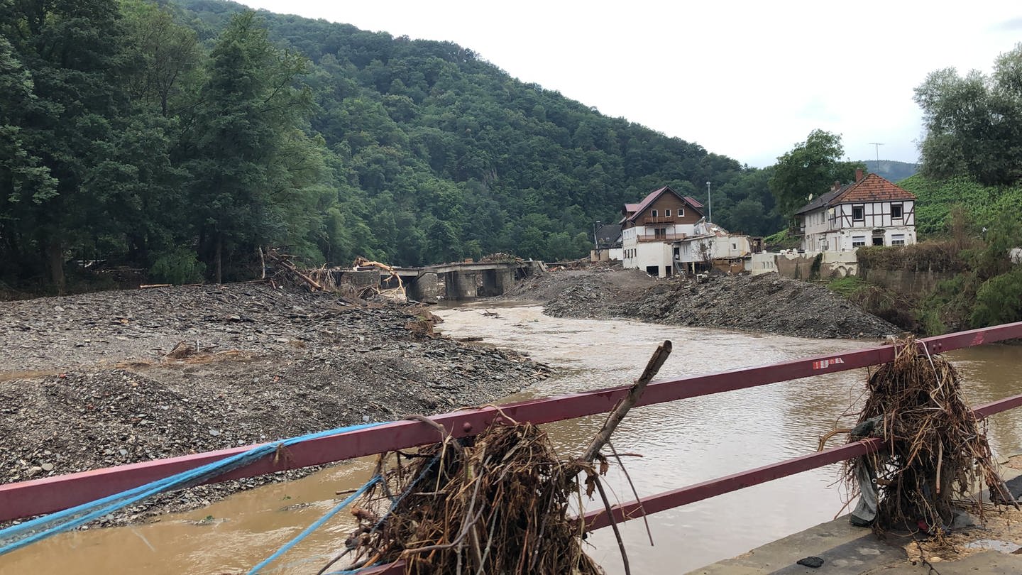
[(310, 92), (295, 86), (306, 63), (274, 46), (250, 11), (231, 17), (211, 53), (187, 168), (200, 257), (217, 282), (225, 259), (307, 231), (287, 226), (321, 170), (310, 167), (314, 146), (299, 129), (312, 109)]

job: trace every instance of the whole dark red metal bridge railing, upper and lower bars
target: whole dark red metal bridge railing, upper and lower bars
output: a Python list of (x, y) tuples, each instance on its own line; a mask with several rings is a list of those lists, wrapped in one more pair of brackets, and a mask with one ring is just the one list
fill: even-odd
[[(918, 343), (930, 353), (941, 353), (1011, 339), (1022, 339), (1022, 322), (927, 338), (919, 340)], [(637, 405), (651, 405), (798, 380), (821, 373), (845, 371), (879, 365), (893, 359), (894, 346), (887, 345), (758, 367), (657, 381), (646, 388), (645, 394)], [(621, 386), (520, 401), (502, 405), (500, 409), (483, 407), (455, 411), (435, 415), (431, 419), (444, 426), (454, 437), (465, 437), (481, 432), (494, 419), (502, 417), (501, 413), (517, 422), (545, 424), (605, 412), (613, 408), (628, 392), (628, 386)], [(982, 418), (1020, 405), (1022, 405), (1022, 394), (981, 405), (974, 411), (977, 417)], [(339, 461), (383, 451), (407, 449), (433, 443), (436, 440), (436, 430), (426, 424), (412, 421), (393, 422), (379, 427), (297, 443), (287, 448), (288, 456), (286, 457), (266, 457), (213, 479), (210, 483)], [(651, 495), (638, 501), (622, 503), (612, 507), (612, 513), (616, 521), (634, 519), (643, 514), (654, 514), (864, 455), (876, 451), (881, 444), (879, 439), (849, 443), (818, 453)], [(0, 521), (67, 508), (235, 453), (247, 451), (252, 447), (254, 446), (249, 445), (0, 485)], [(610, 517), (605, 510), (587, 513), (585, 519), (590, 530), (610, 525)], [(373, 570), (373, 572), (382, 572), (381, 570)]]

